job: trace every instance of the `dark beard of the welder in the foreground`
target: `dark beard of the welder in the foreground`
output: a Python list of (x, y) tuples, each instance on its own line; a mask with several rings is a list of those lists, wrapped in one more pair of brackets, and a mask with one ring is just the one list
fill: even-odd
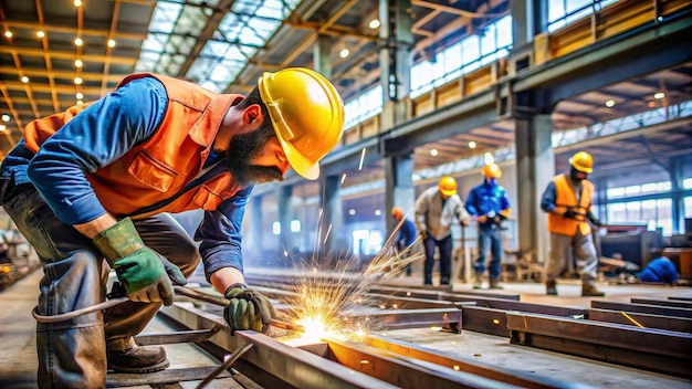
[(276, 137), (271, 126), (248, 134), (235, 135), (226, 153), (226, 165), (233, 179), (241, 186), (250, 183), (282, 181), (283, 174), (275, 166), (252, 165), (250, 161), (258, 157), (266, 143)]

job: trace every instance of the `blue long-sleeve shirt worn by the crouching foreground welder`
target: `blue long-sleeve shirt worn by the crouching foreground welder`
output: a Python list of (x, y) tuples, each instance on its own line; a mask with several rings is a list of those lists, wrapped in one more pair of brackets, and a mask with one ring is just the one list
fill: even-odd
[[(21, 140), (6, 157), (2, 177), (31, 182), (56, 217), (81, 224), (106, 213), (85, 172), (93, 172), (148, 139), (160, 126), (168, 97), (153, 77), (132, 81), (94, 102), (46, 139), (33, 155)], [(210, 155), (207, 164), (221, 156)], [(196, 233), (207, 276), (221, 267), (242, 266), (240, 227), (253, 186), (240, 190), (217, 211), (205, 212)]]

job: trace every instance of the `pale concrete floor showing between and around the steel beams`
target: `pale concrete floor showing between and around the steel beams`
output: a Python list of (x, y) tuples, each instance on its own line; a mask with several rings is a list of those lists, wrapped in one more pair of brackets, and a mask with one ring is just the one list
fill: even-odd
[[(248, 270), (252, 272), (252, 270)], [(266, 270), (263, 272), (266, 274)], [(0, 292), (0, 388), (35, 388), (35, 323), (31, 308), (35, 305), (41, 271), (19, 281)], [(388, 284), (421, 285), (420, 275), (398, 276), (386, 280)], [(580, 297), (578, 281), (568, 280), (558, 284), (559, 296), (545, 296), (542, 284), (505, 283), (505, 290), (492, 293), (520, 294), (521, 301), (551, 305), (588, 307), (591, 298)], [(632, 296), (668, 298), (669, 296), (692, 297), (690, 287), (652, 285), (599, 285), (609, 301), (629, 302)], [(455, 284), (454, 292), (472, 291), (469, 284)], [(165, 333), (167, 326), (154, 320), (145, 333)], [(464, 359), (475, 359), (499, 367), (534, 372), (568, 382), (580, 382), (600, 388), (692, 388), (692, 381), (649, 371), (625, 368), (525, 346), (512, 345), (507, 338), (469, 330), (461, 334), (444, 333), (430, 328), (400, 329), (380, 333), (395, 339), (410, 341)], [(187, 345), (166, 346), (171, 368), (217, 365), (209, 356)], [(230, 380), (230, 379), (229, 379)], [(227, 381), (227, 380), (223, 380)], [(219, 387), (233, 387), (230, 381), (217, 382)], [(214, 385), (214, 387), (217, 386)], [(188, 382), (184, 388), (193, 388)]]

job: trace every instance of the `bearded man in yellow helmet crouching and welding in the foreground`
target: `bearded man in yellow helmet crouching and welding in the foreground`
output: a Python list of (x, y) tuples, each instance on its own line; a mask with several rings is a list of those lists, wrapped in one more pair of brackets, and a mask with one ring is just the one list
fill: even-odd
[[(166, 368), (133, 336), (203, 261), (237, 329), (263, 330), (271, 302), (248, 288), (240, 228), (256, 182), (315, 179), (344, 124), (334, 86), (307, 69), (264, 73), (244, 97), (160, 75), (31, 122), (2, 162), (0, 202), (43, 265), (36, 313), (105, 298), (109, 267), (129, 302), (36, 329), (41, 387), (103, 388), (106, 369)], [(203, 209), (195, 241), (169, 213)], [(104, 260), (107, 262), (104, 263)], [(167, 261), (166, 261), (167, 260)]]

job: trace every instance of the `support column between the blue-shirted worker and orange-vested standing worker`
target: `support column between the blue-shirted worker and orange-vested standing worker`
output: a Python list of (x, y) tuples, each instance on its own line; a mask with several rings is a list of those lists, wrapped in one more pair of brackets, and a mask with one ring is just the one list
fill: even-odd
[[(547, 217), (541, 198), (555, 176), (555, 154), (551, 144), (551, 115), (516, 119), (516, 182), (518, 245), (536, 250), (538, 261), (548, 259)], [(513, 207), (514, 208), (514, 207)]]

